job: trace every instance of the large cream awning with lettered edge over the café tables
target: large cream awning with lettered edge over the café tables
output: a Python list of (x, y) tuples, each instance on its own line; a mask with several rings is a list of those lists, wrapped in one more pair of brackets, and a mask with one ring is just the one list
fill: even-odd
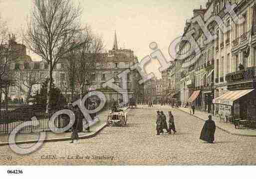
[(235, 100), (251, 93), (252, 91), (254, 91), (254, 89), (229, 91), (229, 92), (225, 93), (224, 95), (222, 95), (218, 98), (215, 98), (213, 100), (213, 103), (214, 104), (225, 104), (225, 105), (233, 106), (233, 103), (234, 103)]

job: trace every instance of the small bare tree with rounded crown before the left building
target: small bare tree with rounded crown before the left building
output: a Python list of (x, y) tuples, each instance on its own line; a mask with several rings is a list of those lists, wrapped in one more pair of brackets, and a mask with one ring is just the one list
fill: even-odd
[(15, 85), (24, 92), (24, 87), (27, 88), (27, 97), (30, 96), (33, 85), (41, 84), (45, 80), (44, 73), (41, 73), (39, 70), (36, 69), (18, 70), (15, 76)]

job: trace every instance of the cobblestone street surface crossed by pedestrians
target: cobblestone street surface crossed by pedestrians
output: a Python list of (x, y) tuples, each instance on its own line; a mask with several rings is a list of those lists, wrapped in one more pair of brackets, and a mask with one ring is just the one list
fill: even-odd
[[(156, 111), (163, 110), (168, 115), (169, 110), (157, 107), (132, 109), (127, 127), (106, 127), (96, 137), (75, 144), (45, 143), (27, 156), (14, 154), (8, 146), (0, 147), (0, 165), (256, 164), (256, 138), (230, 135), (217, 128), (216, 144), (207, 144), (199, 140), (204, 122), (177, 109), (172, 110), (177, 133), (156, 136)], [(45, 159), (48, 155), (55, 159)], [(7, 160), (8, 156), (12, 159)], [(105, 160), (95, 156), (105, 156)]]

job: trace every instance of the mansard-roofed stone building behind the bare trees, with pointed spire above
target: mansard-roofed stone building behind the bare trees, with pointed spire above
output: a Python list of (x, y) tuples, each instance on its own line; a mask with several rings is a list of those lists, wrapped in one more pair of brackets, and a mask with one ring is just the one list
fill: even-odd
[[(36, 73), (42, 73), (44, 78), (48, 75), (48, 64), (44, 61), (32, 61), (31, 57), (26, 54), (26, 47), (23, 44), (18, 44), (15, 39), (10, 41), (15, 48), (21, 48), (21, 53), (18, 55), (18, 59), (9, 65), (9, 69), (18, 75), (20, 71), (26, 72), (28, 70), (34, 70)], [(90, 90), (102, 91), (107, 100), (120, 100), (121, 94), (118, 94), (112, 89), (103, 88), (102, 84), (107, 80), (116, 77), (119, 73), (130, 68), (131, 65), (137, 62), (134, 52), (130, 49), (119, 49), (117, 44), (116, 33), (114, 36), (113, 48), (105, 53), (99, 53), (97, 55), (95, 67), (89, 69), (91, 71), (91, 84)], [(129, 98), (132, 96), (142, 96), (144, 93), (144, 85), (138, 83), (138, 72), (131, 71), (128, 73), (127, 86)], [(70, 89), (68, 88), (68, 73), (66, 69), (65, 59), (59, 60), (53, 70), (53, 81), (57, 88), (61, 90), (66, 96), (67, 102), (70, 101)], [(121, 84), (120, 79), (118, 80)], [(17, 81), (17, 83), (19, 83)], [(76, 94), (79, 93), (78, 86), (76, 86)], [(36, 91), (40, 89), (40, 84), (33, 85), (31, 95), (34, 95)], [(9, 89), (8, 97), (10, 99), (22, 99), (26, 101), (28, 96), (28, 89), (25, 86), (17, 85), (12, 86)], [(138, 95), (139, 94), (139, 95)], [(2, 97), (3, 98), (3, 97)], [(142, 100), (142, 99), (141, 99)]]

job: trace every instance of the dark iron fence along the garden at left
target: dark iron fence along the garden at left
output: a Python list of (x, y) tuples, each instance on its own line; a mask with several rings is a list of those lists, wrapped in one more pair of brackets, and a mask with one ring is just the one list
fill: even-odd
[[(13, 130), (17, 130), (16, 127), (21, 125), (21, 129), (18, 133), (35, 133), (35, 132), (46, 132), (51, 131), (49, 127), (49, 120), (51, 116), (61, 109), (52, 109), (49, 114), (45, 113), (45, 106), (39, 106), (36, 108), (19, 108), (14, 111), (1, 111), (0, 112), (0, 135), (7, 135)], [(80, 110), (74, 110), (75, 114), (75, 124), (78, 122), (78, 131), (81, 131), (81, 122), (83, 115)], [(37, 121), (32, 121), (32, 117), (36, 117), (39, 125), (36, 125)], [(80, 120), (81, 119), (81, 120)], [(32, 125), (26, 126), (25, 122), (30, 121)], [(54, 126), (56, 128), (63, 128), (69, 124), (69, 117), (67, 115), (59, 115), (54, 120)]]

